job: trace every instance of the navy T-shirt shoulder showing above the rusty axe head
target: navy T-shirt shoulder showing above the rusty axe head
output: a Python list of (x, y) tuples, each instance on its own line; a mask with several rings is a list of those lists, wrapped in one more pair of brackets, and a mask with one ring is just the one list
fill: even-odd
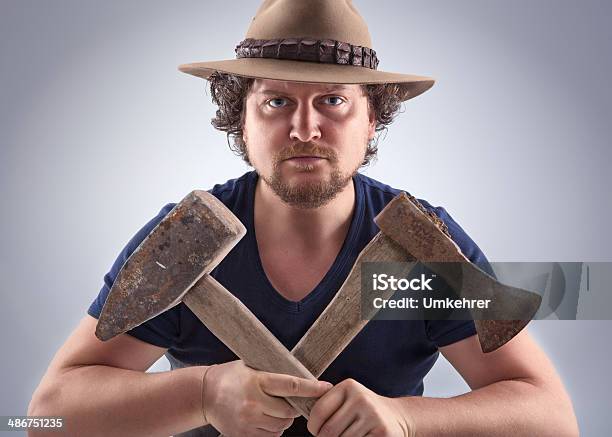
[[(391, 187), (373, 178), (367, 177), (361, 173), (357, 174), (357, 180), (361, 182), (364, 188), (364, 196), (366, 204), (372, 210), (373, 215), (378, 214), (395, 196), (405, 192), (414, 196), (410, 192), (398, 188)], [(416, 197), (416, 196), (414, 196)], [(451, 214), (443, 206), (434, 206), (425, 199), (416, 197), (421, 205), (428, 211), (437, 216), (448, 228), (448, 232), (453, 241), (459, 246), (461, 252), (471, 262), (478, 265), (487, 273), (492, 274), (491, 266), (487, 261), (484, 253), (478, 245), (470, 238), (465, 230), (453, 219)]]

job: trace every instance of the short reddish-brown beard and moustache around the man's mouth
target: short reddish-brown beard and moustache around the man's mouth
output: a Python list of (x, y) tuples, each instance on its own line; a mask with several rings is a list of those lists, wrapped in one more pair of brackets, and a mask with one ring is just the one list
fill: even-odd
[[(290, 184), (283, 179), (281, 164), (286, 159), (300, 155), (311, 155), (326, 158), (331, 165), (329, 177), (325, 180), (308, 181)], [(364, 150), (365, 155), (365, 150)], [(338, 168), (338, 156), (332, 149), (320, 147), (314, 143), (291, 145), (273, 157), (272, 174), (264, 176), (263, 181), (286, 204), (300, 209), (314, 209), (326, 205), (333, 200), (351, 181), (357, 173), (359, 165), (351, 172), (342, 174)], [(297, 168), (300, 173), (317, 171), (314, 165), (302, 165)]]

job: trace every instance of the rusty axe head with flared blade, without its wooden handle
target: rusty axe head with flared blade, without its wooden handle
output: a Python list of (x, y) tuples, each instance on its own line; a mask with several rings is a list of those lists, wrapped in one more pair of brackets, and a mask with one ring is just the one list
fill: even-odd
[(494, 309), (470, 310), (483, 352), (510, 341), (538, 310), (540, 295), (501, 284), (470, 263), (414, 197), (399, 194), (374, 221), (385, 235), (443, 277), (460, 297), (491, 299)]

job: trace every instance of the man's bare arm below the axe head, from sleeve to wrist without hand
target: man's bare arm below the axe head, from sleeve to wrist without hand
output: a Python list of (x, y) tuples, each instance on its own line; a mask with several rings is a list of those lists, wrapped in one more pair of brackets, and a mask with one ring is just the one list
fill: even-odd
[(571, 400), (526, 331), (490, 354), (476, 336), (440, 349), (473, 391), (450, 399), (399, 398), (417, 436), (577, 436)]

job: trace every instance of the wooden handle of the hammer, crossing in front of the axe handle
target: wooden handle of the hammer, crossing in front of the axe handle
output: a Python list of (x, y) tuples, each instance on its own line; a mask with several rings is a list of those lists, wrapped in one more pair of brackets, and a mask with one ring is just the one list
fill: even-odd
[[(183, 297), (187, 307), (244, 363), (257, 370), (316, 380), (251, 311), (212, 276), (204, 275)], [(308, 419), (315, 398), (285, 398)]]

